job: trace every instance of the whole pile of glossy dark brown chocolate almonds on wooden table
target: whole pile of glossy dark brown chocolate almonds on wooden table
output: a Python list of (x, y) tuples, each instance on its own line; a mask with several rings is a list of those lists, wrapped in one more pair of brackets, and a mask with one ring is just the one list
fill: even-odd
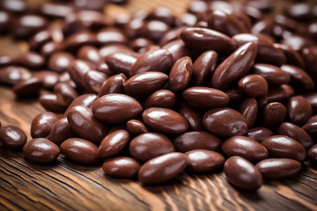
[(269, 0), (193, 1), (180, 17), (159, 7), (116, 20), (105, 4), (0, 3), (0, 32), (29, 46), (0, 57), (0, 83), (47, 110), (32, 140), (2, 125), (3, 147), (143, 184), (223, 168), (248, 191), (317, 162), (316, 4), (276, 14)]

